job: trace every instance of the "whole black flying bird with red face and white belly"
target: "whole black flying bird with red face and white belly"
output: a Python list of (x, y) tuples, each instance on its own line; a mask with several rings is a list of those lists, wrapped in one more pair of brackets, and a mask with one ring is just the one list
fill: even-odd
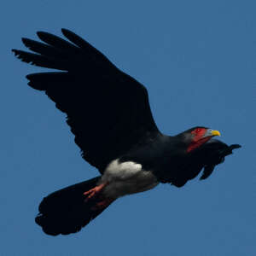
[(12, 49), (26, 63), (59, 72), (32, 73), (29, 85), (43, 90), (56, 108), (67, 113), (84, 160), (101, 176), (46, 196), (36, 223), (49, 235), (78, 232), (120, 196), (153, 189), (159, 183), (182, 187), (203, 170), (232, 154), (238, 144), (218, 140), (218, 131), (198, 126), (171, 137), (154, 123), (143, 84), (120, 71), (97, 49), (75, 33), (69, 40), (38, 32), (44, 43), (22, 42), (34, 53)]

